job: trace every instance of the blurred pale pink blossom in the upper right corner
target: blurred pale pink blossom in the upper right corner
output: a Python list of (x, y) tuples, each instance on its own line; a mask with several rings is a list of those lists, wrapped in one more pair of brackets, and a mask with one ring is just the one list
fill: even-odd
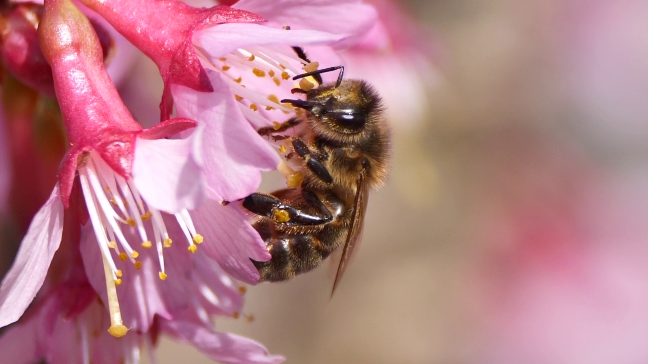
[(642, 149), (648, 135), (646, 12), (641, 0), (573, 0), (564, 10), (564, 78), (583, 121), (573, 127), (610, 152)]

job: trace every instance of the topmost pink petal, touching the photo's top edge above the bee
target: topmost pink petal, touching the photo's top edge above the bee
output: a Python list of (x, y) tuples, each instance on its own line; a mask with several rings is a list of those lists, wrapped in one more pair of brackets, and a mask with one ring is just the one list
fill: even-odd
[[(373, 6), (358, 0), (240, 0), (233, 8), (254, 12), (269, 22), (290, 25), (292, 29), (350, 35), (351, 38), (340, 43), (340, 47), (360, 40), (378, 17)], [(317, 14), (317, 21), (303, 14)]]

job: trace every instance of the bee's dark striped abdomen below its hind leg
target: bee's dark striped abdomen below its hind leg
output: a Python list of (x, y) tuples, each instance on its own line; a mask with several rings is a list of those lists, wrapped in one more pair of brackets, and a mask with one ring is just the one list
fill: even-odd
[(312, 234), (267, 238), (266, 244), (272, 259), (268, 262), (253, 261), (259, 269), (261, 282), (288, 280), (299, 273), (310, 271), (319, 266), (331, 252)]

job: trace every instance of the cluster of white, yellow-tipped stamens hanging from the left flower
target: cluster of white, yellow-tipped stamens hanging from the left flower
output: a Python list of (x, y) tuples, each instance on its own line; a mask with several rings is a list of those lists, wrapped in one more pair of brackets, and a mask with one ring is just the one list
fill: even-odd
[[(87, 211), (104, 263), (111, 315), (111, 327), (108, 331), (113, 336), (120, 337), (126, 334), (128, 329), (122, 324), (117, 301), (116, 286), (122, 283), (122, 270), (117, 268), (114, 258), (117, 257), (123, 262), (130, 260), (136, 269), (142, 266), (141, 260), (137, 260), (139, 252), (128, 242), (122, 228), (128, 225), (128, 229), (137, 231), (141, 247), (150, 249), (153, 245), (156, 246), (160, 268), (158, 275), (161, 280), (167, 279), (163, 248), (170, 247), (172, 240), (162, 212), (148, 207), (137, 192), (133, 180), (124, 179), (115, 173), (97, 152), (92, 151), (85, 156), (78, 172)], [(203, 237), (196, 233), (189, 212), (182, 210), (174, 216), (189, 244), (188, 250), (195, 253), (198, 249), (197, 244), (202, 243)], [(153, 233), (153, 239), (150, 239), (147, 226)]]

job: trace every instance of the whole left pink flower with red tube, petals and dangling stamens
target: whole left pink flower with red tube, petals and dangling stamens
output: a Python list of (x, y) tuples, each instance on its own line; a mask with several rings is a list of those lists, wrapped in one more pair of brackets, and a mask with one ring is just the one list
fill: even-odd
[[(191, 148), (194, 134), (186, 139), (163, 139), (192, 128), (195, 122), (173, 119), (143, 130), (121, 103), (103, 67), (97, 39), (89, 29), (87, 19), (69, 1), (48, 1), (45, 5), (39, 32), (45, 57), (52, 66), (71, 148), (62, 163), (58, 185), (34, 217), (16, 263), (0, 288), (0, 324), (16, 321), (43, 284), (62, 238), (64, 206), (70, 206), (80, 220), (91, 222), (82, 231), (80, 260), (84, 269), (74, 269), (72, 281), (87, 275), (91, 286), (86, 282), (79, 291), (64, 284), (60, 286), (62, 292), (50, 291), (41, 301), (45, 308), (36, 310), (40, 318), (27, 319), (16, 330), (29, 332), (41, 326), (40, 321), (62, 320), (65, 330), (56, 332), (55, 326), (51, 331), (57, 339), (84, 337), (87, 325), (105, 325), (115, 337), (124, 336), (129, 329), (135, 332), (119, 341), (123, 348), (115, 348), (114, 339), (102, 330), (104, 338), (92, 336), (98, 340), (64, 353), (65, 360), (94, 358), (89, 350), (100, 348), (117, 352), (117, 357), (125, 361), (135, 361), (137, 355), (119, 353), (136, 352), (140, 346), (136, 337), (147, 333), (156, 337), (161, 330), (195, 343), (217, 360), (283, 361), (270, 356), (254, 341), (211, 328), (213, 315), (234, 315), (242, 305), (238, 284), (225, 271), (255, 283), (259, 273), (250, 258), (267, 260), (270, 256), (246, 216), (233, 206), (225, 207), (213, 200), (203, 203), (205, 181), (200, 172), (200, 155)], [(76, 173), (78, 185), (74, 182)], [(84, 196), (87, 216), (73, 198), (73, 185)], [(189, 214), (187, 209), (194, 208)], [(125, 229), (126, 225), (130, 227)], [(203, 241), (200, 229), (207, 238), (203, 245), (207, 254), (192, 255)], [(178, 243), (183, 240), (187, 248)], [(141, 253), (132, 242), (139, 243)], [(207, 256), (213, 256), (218, 264)], [(74, 261), (67, 263), (80, 267)], [(84, 313), (61, 315), (62, 299), (83, 292), (94, 296), (95, 291), (104, 306), (88, 304), (79, 308), (79, 312), (86, 312), (86, 308), (97, 307), (87, 317)], [(97, 317), (110, 319), (110, 324), (97, 321)], [(3, 341), (11, 342), (11, 337)], [(58, 342), (40, 341), (32, 354), (57, 358)], [(110, 355), (98, 355), (113, 362)]]

